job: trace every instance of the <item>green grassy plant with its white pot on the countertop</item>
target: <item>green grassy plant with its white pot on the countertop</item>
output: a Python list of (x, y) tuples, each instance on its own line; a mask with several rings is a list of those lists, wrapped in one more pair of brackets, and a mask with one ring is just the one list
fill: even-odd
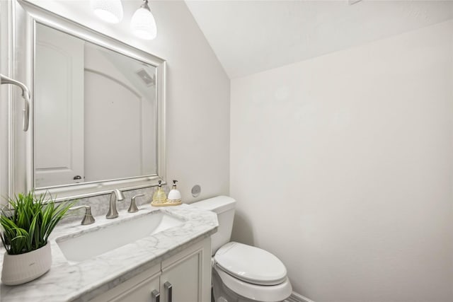
[(4, 253), (1, 281), (17, 285), (45, 274), (52, 265), (47, 239), (74, 202), (45, 199), (34, 192), (8, 198), (9, 207), (0, 210), (1, 242)]

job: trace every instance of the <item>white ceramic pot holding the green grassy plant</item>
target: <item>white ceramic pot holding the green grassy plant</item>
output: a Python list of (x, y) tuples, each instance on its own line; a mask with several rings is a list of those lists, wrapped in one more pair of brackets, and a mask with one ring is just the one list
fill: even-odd
[(45, 274), (52, 265), (52, 250), (47, 242), (42, 248), (25, 254), (3, 257), (1, 281), (6, 285), (18, 285), (32, 281)]

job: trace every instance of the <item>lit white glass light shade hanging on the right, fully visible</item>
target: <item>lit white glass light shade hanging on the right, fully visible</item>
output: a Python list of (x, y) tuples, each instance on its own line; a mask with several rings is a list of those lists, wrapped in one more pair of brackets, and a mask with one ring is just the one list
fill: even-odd
[(156, 21), (148, 6), (148, 0), (143, 0), (142, 6), (135, 11), (130, 21), (132, 33), (143, 40), (153, 40), (157, 36)]

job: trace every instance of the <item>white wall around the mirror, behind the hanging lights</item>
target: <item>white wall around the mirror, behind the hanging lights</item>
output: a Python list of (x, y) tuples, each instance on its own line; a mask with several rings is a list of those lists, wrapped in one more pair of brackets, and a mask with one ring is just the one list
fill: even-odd
[(228, 194), (230, 82), (183, 1), (150, 3), (158, 28), (151, 41), (130, 33), (140, 0), (122, 1), (125, 17), (117, 25), (99, 21), (89, 1), (32, 2), (166, 59), (167, 180), (179, 180), (184, 202), (195, 200), (190, 194), (195, 184), (202, 187), (197, 199)]

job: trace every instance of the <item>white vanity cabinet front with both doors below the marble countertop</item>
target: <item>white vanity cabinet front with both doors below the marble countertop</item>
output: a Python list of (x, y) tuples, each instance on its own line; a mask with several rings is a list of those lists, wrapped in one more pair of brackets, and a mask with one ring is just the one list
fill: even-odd
[(210, 302), (210, 237), (96, 296), (92, 302)]

